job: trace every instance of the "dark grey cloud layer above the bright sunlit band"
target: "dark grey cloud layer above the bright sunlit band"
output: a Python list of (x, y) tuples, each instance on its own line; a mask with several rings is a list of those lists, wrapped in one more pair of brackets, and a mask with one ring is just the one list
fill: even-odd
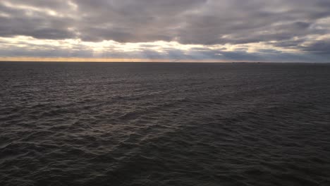
[(327, 54), (329, 41), (304, 42), (329, 34), (330, 25), (319, 23), (330, 17), (329, 10), (329, 0), (3, 0), (0, 37), (204, 45), (265, 42)]

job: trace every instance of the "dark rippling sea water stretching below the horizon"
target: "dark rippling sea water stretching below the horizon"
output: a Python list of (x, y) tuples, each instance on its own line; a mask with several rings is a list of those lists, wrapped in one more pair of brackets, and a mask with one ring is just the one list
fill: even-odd
[(0, 63), (0, 185), (330, 185), (330, 64)]

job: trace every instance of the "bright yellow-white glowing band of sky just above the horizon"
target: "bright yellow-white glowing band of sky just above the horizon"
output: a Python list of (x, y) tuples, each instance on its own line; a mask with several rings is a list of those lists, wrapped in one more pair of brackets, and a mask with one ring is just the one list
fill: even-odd
[[(243, 50), (246, 54), (259, 52), (261, 49), (288, 51), (299, 53), (295, 49), (281, 49), (262, 42), (249, 44), (180, 44), (179, 42), (127, 42), (120, 43), (113, 40), (101, 42), (85, 42), (81, 39), (36, 39), (27, 36), (0, 37), (3, 43), (0, 49), (26, 49), (34, 51), (32, 56), (0, 56), (1, 61), (26, 61), (35, 58), (37, 61), (248, 61), (228, 60), (222, 58), (222, 52)], [(38, 51), (48, 51), (47, 56), (38, 55)], [(171, 54), (180, 51), (180, 54)], [(212, 51), (214, 58), (203, 56), (203, 51)], [(196, 58), (193, 56), (199, 54)], [(82, 56), (85, 55), (85, 56)], [(172, 55), (172, 56), (171, 56)], [(73, 60), (73, 58), (75, 58)], [(94, 59), (92, 59), (94, 58)], [(267, 59), (263, 60), (267, 61)]]

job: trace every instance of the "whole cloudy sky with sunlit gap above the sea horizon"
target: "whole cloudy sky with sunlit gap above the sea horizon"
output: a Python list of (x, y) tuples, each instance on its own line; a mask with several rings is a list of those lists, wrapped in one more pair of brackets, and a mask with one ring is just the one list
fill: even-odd
[(1, 0), (0, 60), (330, 62), (329, 0)]

